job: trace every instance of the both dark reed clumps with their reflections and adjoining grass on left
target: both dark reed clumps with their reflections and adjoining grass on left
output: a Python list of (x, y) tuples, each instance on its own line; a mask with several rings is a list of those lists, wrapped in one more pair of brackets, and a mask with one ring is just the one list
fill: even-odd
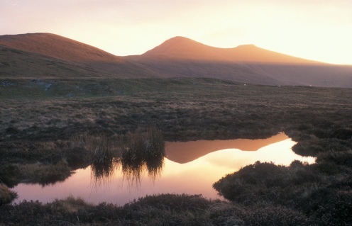
[(73, 136), (69, 143), (70, 149), (86, 149), (89, 153), (94, 184), (106, 182), (120, 165), (123, 178), (130, 182), (131, 187), (139, 186), (145, 170), (152, 180), (161, 174), (165, 141), (157, 128), (129, 132), (123, 142), (116, 136), (84, 134)]

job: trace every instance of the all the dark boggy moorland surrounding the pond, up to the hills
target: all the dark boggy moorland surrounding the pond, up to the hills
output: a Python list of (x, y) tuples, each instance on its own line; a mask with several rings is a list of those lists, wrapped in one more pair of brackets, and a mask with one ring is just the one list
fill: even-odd
[[(351, 89), (256, 86), (216, 79), (0, 82), (0, 179), (10, 187), (20, 181), (53, 183), (89, 164), (87, 150), (72, 146), (72, 137), (105, 135), (119, 141), (128, 132), (151, 125), (166, 140), (263, 138), (286, 132), (298, 142), (293, 148), (297, 154), (317, 157), (316, 164), (294, 162), (288, 167), (257, 162), (214, 181), (214, 188), (231, 202), (187, 195), (146, 197), (123, 207), (94, 206), (75, 198), (48, 204), (24, 201), (0, 207), (4, 224), (352, 222)], [(67, 202), (80, 204), (71, 208)]]

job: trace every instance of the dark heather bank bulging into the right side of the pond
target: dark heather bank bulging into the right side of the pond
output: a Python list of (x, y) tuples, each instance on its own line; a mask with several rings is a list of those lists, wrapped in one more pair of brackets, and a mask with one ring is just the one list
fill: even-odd
[(251, 208), (258, 204), (267, 208), (281, 206), (292, 208), (318, 225), (345, 225), (352, 222), (352, 171), (343, 167), (350, 160), (342, 158), (347, 156), (349, 152), (324, 154), (318, 158), (319, 163), (311, 165), (298, 161), (290, 166), (255, 162), (224, 176), (213, 186), (225, 198)]

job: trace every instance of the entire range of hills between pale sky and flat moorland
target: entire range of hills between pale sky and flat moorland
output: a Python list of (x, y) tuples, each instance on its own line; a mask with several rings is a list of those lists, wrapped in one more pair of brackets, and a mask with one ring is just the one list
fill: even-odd
[(352, 66), (304, 60), (255, 45), (217, 48), (175, 37), (143, 55), (118, 57), (59, 35), (34, 33), (1, 35), (0, 47), (1, 77), (209, 77), (264, 85), (352, 87)]

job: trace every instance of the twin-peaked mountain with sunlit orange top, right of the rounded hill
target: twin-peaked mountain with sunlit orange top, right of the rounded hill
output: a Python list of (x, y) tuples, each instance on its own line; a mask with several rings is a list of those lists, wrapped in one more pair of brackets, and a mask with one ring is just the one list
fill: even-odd
[(217, 48), (175, 37), (125, 57), (164, 77), (211, 77), (265, 85), (352, 87), (352, 67), (304, 60), (255, 45)]

